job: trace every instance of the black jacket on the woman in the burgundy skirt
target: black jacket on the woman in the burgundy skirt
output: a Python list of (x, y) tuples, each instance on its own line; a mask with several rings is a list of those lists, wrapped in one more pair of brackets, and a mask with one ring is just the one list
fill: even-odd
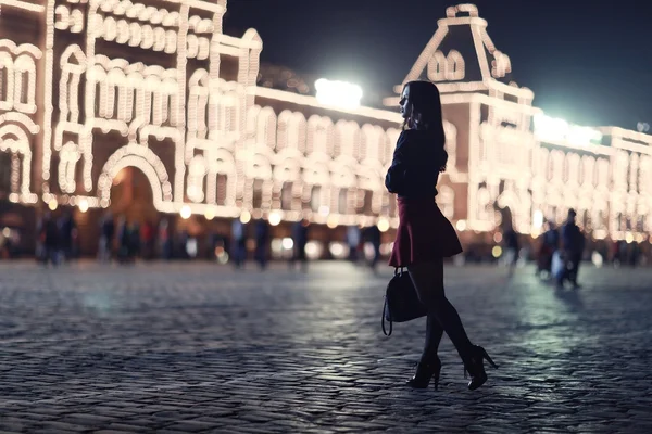
[(427, 130), (401, 132), (385, 187), (399, 197), (427, 199), (437, 195), (437, 180), (442, 165), (443, 143)]

